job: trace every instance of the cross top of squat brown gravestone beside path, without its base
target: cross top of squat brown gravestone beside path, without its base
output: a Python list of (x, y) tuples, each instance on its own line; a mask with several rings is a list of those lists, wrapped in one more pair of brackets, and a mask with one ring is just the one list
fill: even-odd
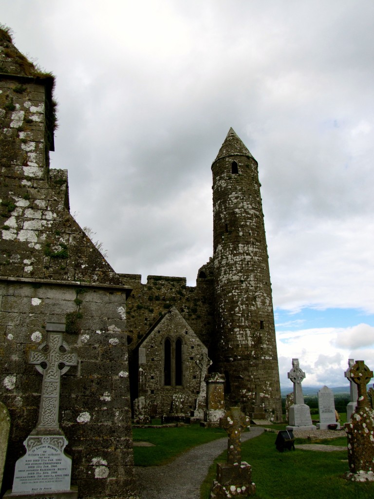
[(241, 463), (241, 441), (240, 435), (244, 428), (249, 426), (249, 418), (245, 416), (240, 407), (230, 407), (223, 418), (219, 420), (219, 426), (228, 433), (227, 440), (227, 463)]

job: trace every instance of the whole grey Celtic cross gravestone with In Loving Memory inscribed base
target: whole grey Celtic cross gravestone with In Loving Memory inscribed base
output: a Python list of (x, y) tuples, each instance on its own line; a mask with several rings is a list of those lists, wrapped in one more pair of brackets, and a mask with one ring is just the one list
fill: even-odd
[[(43, 375), (38, 422), (24, 441), (26, 454), (15, 464), (12, 491), (5, 498), (77, 499), (70, 488), (71, 458), (58, 424), (60, 377), (77, 365), (77, 354), (62, 341), (65, 324), (47, 323), (47, 341), (29, 354), (29, 363)], [(62, 368), (61, 368), (62, 367)]]

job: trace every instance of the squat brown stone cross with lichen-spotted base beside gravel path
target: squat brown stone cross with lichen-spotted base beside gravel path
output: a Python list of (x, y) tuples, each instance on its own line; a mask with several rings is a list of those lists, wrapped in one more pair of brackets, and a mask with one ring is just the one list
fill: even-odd
[(219, 426), (228, 433), (227, 463), (217, 464), (216, 480), (213, 481), (210, 498), (226, 499), (255, 494), (251, 466), (241, 460), (240, 436), (242, 430), (249, 427), (249, 418), (239, 407), (231, 407), (224, 417), (220, 418)]

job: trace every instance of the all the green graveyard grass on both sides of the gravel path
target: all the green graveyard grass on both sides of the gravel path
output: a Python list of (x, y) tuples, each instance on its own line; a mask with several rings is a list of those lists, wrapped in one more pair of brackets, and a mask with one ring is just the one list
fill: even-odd
[[(345, 414), (341, 414), (344, 423)], [(155, 422), (156, 423), (156, 422)], [(374, 483), (357, 483), (344, 479), (348, 471), (347, 437), (343, 431), (337, 438), (322, 440), (296, 439), (299, 444), (324, 444), (342, 446), (344, 450), (322, 452), (303, 450), (278, 452), (275, 439), (286, 424), (273, 425), (271, 431), (242, 444), (242, 460), (252, 466), (252, 480), (256, 484), (254, 499), (291, 499), (297, 495), (303, 499), (338, 497), (339, 499), (371, 499)], [(269, 427), (267, 427), (269, 428)], [(134, 428), (134, 441), (147, 442), (151, 447), (134, 447), (136, 466), (160, 466), (173, 461), (177, 456), (200, 444), (225, 438), (219, 428), (200, 428), (198, 425), (175, 428)], [(318, 431), (316, 432), (316, 437)], [(338, 436), (340, 435), (340, 436)], [(216, 463), (225, 462), (227, 453), (222, 453), (210, 466), (208, 475), (200, 489), (200, 499), (208, 499), (210, 487), (215, 479)], [(176, 477), (178, 480), (178, 477)]]

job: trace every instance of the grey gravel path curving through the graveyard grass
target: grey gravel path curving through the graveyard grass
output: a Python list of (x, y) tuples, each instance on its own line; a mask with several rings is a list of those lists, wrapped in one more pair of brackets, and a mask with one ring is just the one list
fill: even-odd
[[(245, 442), (263, 428), (251, 427), (241, 436)], [(213, 460), (227, 448), (227, 437), (194, 447), (166, 466), (135, 467), (140, 499), (199, 499), (200, 485)]]

